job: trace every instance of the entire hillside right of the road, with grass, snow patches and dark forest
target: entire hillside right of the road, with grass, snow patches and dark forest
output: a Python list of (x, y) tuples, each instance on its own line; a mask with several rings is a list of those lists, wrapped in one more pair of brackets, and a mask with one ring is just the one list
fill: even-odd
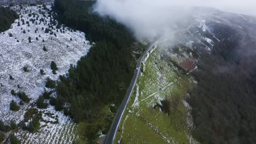
[[(183, 143), (191, 140), (186, 137), (187, 134), (191, 134), (200, 143), (256, 142), (253, 114), (256, 110), (255, 17), (205, 8), (197, 8), (191, 17), (194, 17), (194, 20), (185, 31), (176, 33), (170, 39), (165, 38), (165, 41), (161, 42), (163, 44), (158, 47), (159, 50), (155, 50), (158, 52), (156, 56), (156, 52), (149, 54), (154, 56), (154, 63), (148, 67), (147, 63), (152, 63), (152, 60), (149, 58), (146, 62), (146, 67), (150, 70), (161, 63), (174, 64), (174, 69), (170, 69), (168, 74), (176, 71), (175, 67), (181, 70), (183, 76), (187, 76), (191, 70), (191, 76), (197, 81), (197, 85), (193, 90), (183, 89), (185, 86), (182, 86), (179, 90), (183, 94), (178, 97), (188, 101), (183, 107), (191, 106), (190, 115), (182, 115), (181, 110), (186, 109), (177, 109), (173, 105), (173, 100), (181, 101), (177, 100), (177, 93), (170, 91), (172, 87), (178, 86), (175, 80), (167, 90), (161, 87), (162, 81), (165, 80), (162, 77), (168, 76), (167, 73), (162, 74), (167, 66), (162, 69), (160, 67), (152, 74), (148, 74), (150, 70), (142, 70), (137, 89), (133, 92), (130, 106), (127, 107), (115, 138), (117, 143), (171, 143), (171, 140)], [(158, 62), (158, 57), (162, 57), (161, 62)], [(159, 74), (158, 79), (155, 79), (156, 74)], [(177, 82), (179, 81), (182, 79), (177, 78)], [(155, 84), (150, 85), (152, 82)], [(156, 86), (160, 86), (159, 92), (151, 92)], [(168, 94), (165, 94), (168, 97), (161, 95), (161, 91), (168, 91)], [(145, 92), (148, 94), (143, 99)], [(152, 100), (154, 98), (156, 100)], [(144, 103), (143, 100), (147, 99), (151, 101)], [(143, 114), (144, 111), (147, 111), (146, 114)], [(189, 118), (192, 115), (195, 127), (186, 129), (191, 130), (191, 133), (179, 133), (183, 135), (182, 139), (174, 133), (168, 135), (162, 130), (163, 125), (166, 131), (179, 131), (183, 125), (182, 120), (179, 119), (180, 123), (176, 124), (178, 128), (173, 128), (170, 127), (170, 122), (161, 118), (162, 114), (154, 113), (155, 111), (166, 113), (172, 124), (176, 123), (173, 117)]]

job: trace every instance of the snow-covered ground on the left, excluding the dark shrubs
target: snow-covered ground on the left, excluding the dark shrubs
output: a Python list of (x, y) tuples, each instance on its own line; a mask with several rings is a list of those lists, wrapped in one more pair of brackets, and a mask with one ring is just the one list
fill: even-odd
[[(60, 29), (58, 29), (57, 32), (56, 26), (54, 26), (52, 32), (56, 34), (56, 37), (54, 34), (45, 33), (45, 28), (49, 27), (48, 24), (51, 18), (48, 17), (48, 12), (43, 10), (43, 7), (23, 6), (23, 8), (24, 9), (20, 9), (19, 6), (13, 7), (13, 9), (20, 14), (20, 19), (15, 20), (11, 29), (0, 33), (0, 120), (6, 124), (8, 124), (10, 120), (14, 120), (16, 123), (20, 122), (24, 118), (28, 107), (31, 107), (31, 104), (44, 92), (45, 79), (47, 77), (53, 80), (59, 79), (59, 75), (66, 74), (69, 65), (77, 63), (79, 58), (86, 55), (91, 47), (89, 41), (85, 40), (85, 34), (83, 32), (70, 31), (67, 27), (63, 28), (62, 26), (61, 33)], [(48, 8), (50, 9), (50, 6), (48, 6)], [(39, 14), (39, 10), (45, 12), (46, 16), (44, 17), (42, 14)], [(28, 15), (32, 13), (36, 14), (35, 17)], [(32, 23), (30, 19), (37, 19), (36, 17), (38, 17), (38, 20)], [(45, 21), (40, 22), (39, 20), (41, 18)], [(21, 19), (25, 20), (25, 25), (22, 25)], [(26, 24), (26, 21), (29, 22), (30, 26)], [(20, 22), (20, 26), (18, 26), (18, 22)], [(42, 30), (42, 28), (44, 29)], [(26, 33), (23, 33), (24, 30)], [(63, 33), (63, 31), (65, 31), (65, 33)], [(9, 33), (11, 33), (13, 37), (9, 37)], [(28, 37), (31, 37), (32, 43), (29, 43)], [(38, 40), (36, 40), (36, 37)], [(44, 46), (48, 51), (43, 51)], [(54, 75), (50, 69), (51, 61), (54, 61), (59, 69), (56, 71), (56, 75)], [(29, 71), (25, 72), (23, 70), (24, 67), (27, 67)], [(45, 75), (40, 74), (40, 69), (45, 71)], [(10, 80), (10, 75), (13, 76), (14, 80)], [(18, 85), (21, 88), (18, 88)], [(31, 98), (30, 103), (20, 106), (18, 112), (9, 110), (11, 100), (15, 100), (18, 104), (20, 101), (18, 97), (11, 95), (11, 89), (14, 89), (16, 92), (25, 92), (28, 97)], [(44, 133), (26, 135), (36, 135), (39, 136), (39, 139), (45, 138), (52, 140), (47, 143), (58, 143), (59, 138), (56, 135), (60, 137), (65, 130), (73, 130), (74, 126), (72, 126), (72, 121), (63, 115), (63, 112), (56, 112), (51, 106), (48, 107), (47, 110), (57, 116), (59, 123), (46, 124), (47, 126), (41, 129)], [(41, 124), (41, 126), (42, 125), (43, 124)], [(22, 134), (22, 137), (24, 137), (25, 133), (28, 132), (20, 131), (19, 134), (16, 135), (21, 137), (19, 135)], [(28, 137), (31, 138), (31, 136)], [(55, 138), (53, 139), (53, 137)], [(32, 138), (32, 143), (42, 143), (39, 139), (37, 140), (35, 137)], [(66, 136), (66, 142), (64, 143), (68, 141), (72, 141), (72, 136)], [(27, 142), (31, 143), (29, 141)], [(46, 143), (46, 141), (43, 143)]]

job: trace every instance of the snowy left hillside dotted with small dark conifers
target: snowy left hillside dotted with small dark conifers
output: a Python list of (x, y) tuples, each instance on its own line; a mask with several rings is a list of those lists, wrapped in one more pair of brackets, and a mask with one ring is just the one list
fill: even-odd
[[(76, 64), (80, 57), (88, 53), (91, 45), (83, 32), (64, 25), (57, 28), (58, 22), (53, 20), (50, 5), (22, 5), (11, 9), (17, 11), (20, 19), (15, 20), (12, 28), (0, 34), (0, 120), (6, 125), (14, 121), (19, 128), (8, 131), (6, 138), (14, 133), (22, 143), (72, 143), (78, 139), (77, 124), (63, 112), (56, 112), (54, 106), (39, 109), (36, 101), (45, 91), (53, 90), (45, 87), (47, 77), (58, 80), (59, 75), (67, 73), (70, 64)], [(58, 68), (56, 74), (51, 70), (52, 61)], [(16, 93), (25, 92), (30, 102), (21, 105), (22, 100), (12, 95), (11, 89)], [(51, 97), (55, 97), (55, 93)], [(19, 111), (10, 110), (11, 100), (18, 104)], [(49, 105), (48, 99), (44, 102)], [(28, 114), (31, 108), (38, 109), (37, 116), (42, 115), (36, 133), (29, 132), (22, 125), (25, 122), (25, 127), (29, 128), (34, 117)]]

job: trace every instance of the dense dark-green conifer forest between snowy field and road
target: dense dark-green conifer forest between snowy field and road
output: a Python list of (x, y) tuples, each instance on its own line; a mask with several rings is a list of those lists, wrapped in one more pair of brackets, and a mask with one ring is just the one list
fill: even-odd
[(76, 66), (71, 65), (66, 76), (60, 76), (57, 98), (52, 101), (56, 110), (83, 123), (81, 135), (95, 143), (98, 131), (107, 133), (131, 81), (135, 38), (115, 20), (92, 13), (92, 1), (55, 0), (54, 4), (59, 15), (56, 19), (85, 32), (86, 39), (96, 44)]

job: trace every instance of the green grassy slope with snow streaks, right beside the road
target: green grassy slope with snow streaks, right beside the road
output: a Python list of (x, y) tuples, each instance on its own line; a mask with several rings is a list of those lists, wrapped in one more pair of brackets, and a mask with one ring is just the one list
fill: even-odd
[[(138, 78), (115, 143), (118, 140), (121, 143), (189, 143), (186, 135), (190, 133), (187, 128), (188, 110), (183, 100), (194, 86), (190, 82), (193, 78), (175, 72), (175, 68), (162, 60), (160, 55), (161, 51), (155, 49), (143, 65), (144, 73)], [(172, 107), (170, 116), (159, 108), (153, 108), (165, 98), (178, 101)]]

